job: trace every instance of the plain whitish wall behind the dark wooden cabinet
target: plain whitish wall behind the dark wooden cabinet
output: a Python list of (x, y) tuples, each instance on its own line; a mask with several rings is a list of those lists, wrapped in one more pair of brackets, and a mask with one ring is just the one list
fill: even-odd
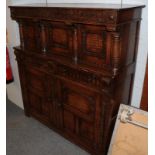
[[(121, 0), (47, 0), (48, 3), (114, 3), (121, 4)], [(135, 107), (140, 106), (140, 100), (143, 89), (143, 81), (145, 75), (145, 66), (147, 62), (147, 51), (148, 51), (148, 7), (147, 0), (122, 0), (123, 4), (145, 4), (146, 7), (142, 12), (142, 22), (140, 28), (140, 38), (138, 47), (138, 56), (136, 64), (136, 73), (134, 78), (133, 94), (131, 104)], [(45, 3), (46, 0), (6, 0), (6, 25), (8, 31), (8, 48), (10, 54), (10, 61), (13, 70), (14, 82), (7, 85), (8, 98), (14, 102), (17, 106), (23, 108), (20, 81), (18, 75), (17, 62), (13, 52), (13, 47), (18, 46), (19, 31), (18, 25), (15, 21), (10, 18), (9, 5), (15, 4), (28, 4), (28, 3)]]

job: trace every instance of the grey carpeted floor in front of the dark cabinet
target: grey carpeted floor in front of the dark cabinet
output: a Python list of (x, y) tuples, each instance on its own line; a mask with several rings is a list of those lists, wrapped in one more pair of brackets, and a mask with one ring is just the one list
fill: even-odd
[(7, 101), (7, 155), (89, 155)]

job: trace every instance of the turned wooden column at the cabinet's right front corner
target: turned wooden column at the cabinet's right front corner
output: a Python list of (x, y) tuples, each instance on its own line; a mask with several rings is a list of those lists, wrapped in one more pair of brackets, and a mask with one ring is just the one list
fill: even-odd
[(113, 77), (117, 75), (120, 67), (121, 59), (121, 38), (119, 33), (113, 33), (113, 47), (112, 47), (112, 65), (113, 65)]

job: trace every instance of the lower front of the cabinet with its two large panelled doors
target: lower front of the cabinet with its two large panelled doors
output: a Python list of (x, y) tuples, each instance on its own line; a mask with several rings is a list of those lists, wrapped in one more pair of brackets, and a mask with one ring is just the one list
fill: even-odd
[(103, 98), (103, 92), (49, 74), (35, 63), (20, 68), (20, 75), (28, 116), (35, 117), (92, 155), (100, 155), (100, 152), (103, 155), (107, 138), (104, 132), (108, 130), (105, 124), (110, 120), (108, 112), (107, 117), (104, 116), (107, 111), (104, 104), (109, 101)]

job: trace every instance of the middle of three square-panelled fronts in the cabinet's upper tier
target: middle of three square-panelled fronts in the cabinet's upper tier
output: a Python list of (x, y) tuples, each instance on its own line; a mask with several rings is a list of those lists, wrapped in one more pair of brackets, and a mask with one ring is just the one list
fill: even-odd
[(48, 24), (48, 52), (71, 58), (73, 55), (72, 26), (62, 22)]

